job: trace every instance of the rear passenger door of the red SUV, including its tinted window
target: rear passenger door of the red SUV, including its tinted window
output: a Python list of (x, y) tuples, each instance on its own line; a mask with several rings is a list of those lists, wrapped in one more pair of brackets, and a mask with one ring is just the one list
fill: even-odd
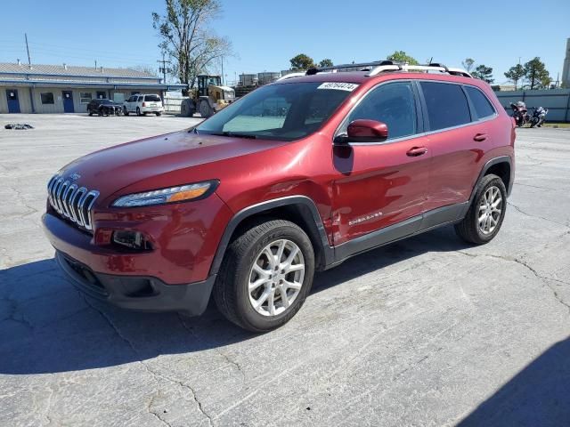
[(425, 210), (468, 200), (485, 152), (462, 85), (419, 81), (432, 166)]

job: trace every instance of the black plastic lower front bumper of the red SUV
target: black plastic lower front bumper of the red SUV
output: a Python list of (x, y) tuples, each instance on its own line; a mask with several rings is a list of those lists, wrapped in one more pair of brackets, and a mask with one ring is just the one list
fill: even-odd
[(96, 273), (67, 254), (55, 254), (80, 291), (118, 307), (141, 311), (178, 311), (199, 316), (206, 310), (216, 276), (187, 285), (167, 285), (159, 278)]

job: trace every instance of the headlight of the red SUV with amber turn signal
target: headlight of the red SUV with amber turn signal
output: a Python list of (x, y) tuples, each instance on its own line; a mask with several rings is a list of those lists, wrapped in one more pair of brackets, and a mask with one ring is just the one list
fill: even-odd
[(208, 197), (214, 192), (219, 181), (204, 181), (196, 184), (180, 185), (169, 189), (153, 189), (144, 193), (127, 194), (113, 202), (115, 207), (165, 205)]

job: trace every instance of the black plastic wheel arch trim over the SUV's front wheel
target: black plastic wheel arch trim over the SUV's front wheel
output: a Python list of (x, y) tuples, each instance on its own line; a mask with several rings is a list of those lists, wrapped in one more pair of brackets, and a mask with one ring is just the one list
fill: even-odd
[(315, 254), (316, 270), (323, 270), (333, 259), (333, 249), (329, 246), (321, 215), (314, 201), (306, 196), (289, 196), (268, 200), (248, 206), (233, 215), (224, 230), (210, 267), (210, 275), (217, 274), (224, 260), (224, 254), (233, 238), (240, 235), (260, 218), (279, 218), (296, 223), (311, 239)]

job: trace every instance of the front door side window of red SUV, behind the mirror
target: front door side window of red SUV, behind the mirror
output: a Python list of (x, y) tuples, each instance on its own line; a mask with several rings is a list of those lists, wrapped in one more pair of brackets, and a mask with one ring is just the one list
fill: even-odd
[(350, 113), (342, 132), (357, 119), (370, 119), (386, 123), (388, 140), (417, 133), (416, 107), (411, 82), (380, 85)]

